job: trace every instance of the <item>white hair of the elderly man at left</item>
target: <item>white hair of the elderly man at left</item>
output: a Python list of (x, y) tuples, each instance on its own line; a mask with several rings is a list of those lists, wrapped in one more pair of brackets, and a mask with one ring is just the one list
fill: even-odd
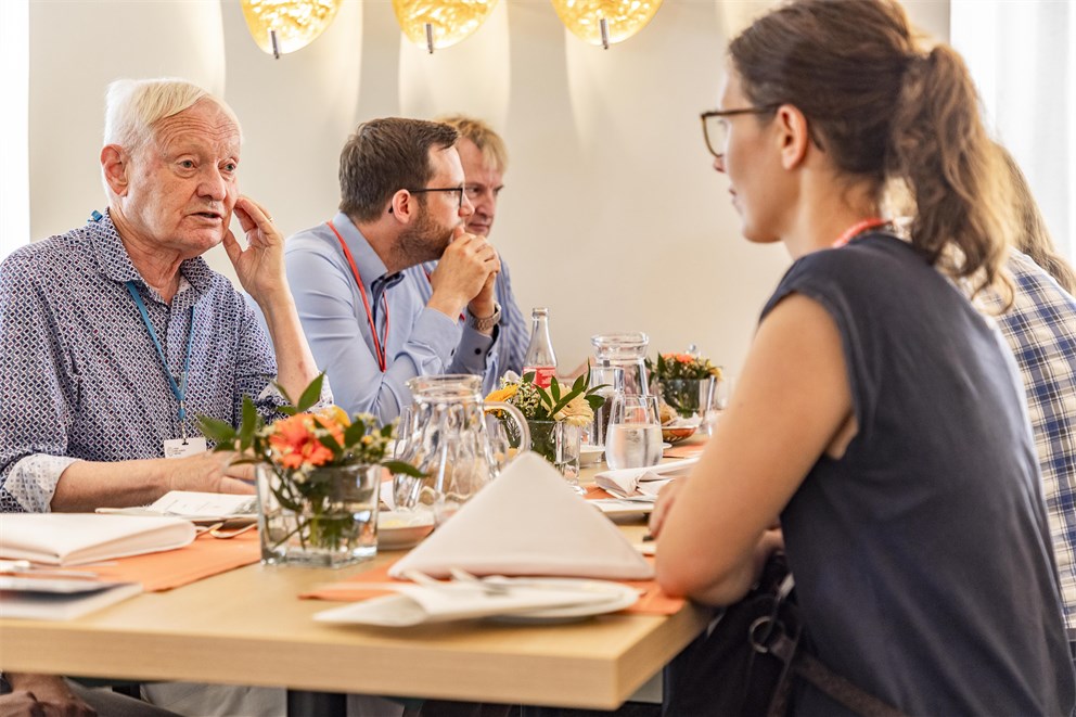
[[(189, 110), (202, 100), (219, 106), (243, 139), (239, 117), (228, 104), (193, 82), (174, 77), (118, 79), (108, 85), (104, 110), (104, 145), (117, 144), (138, 154), (153, 138), (156, 123)], [(104, 176), (102, 175), (102, 181)], [(111, 196), (107, 181), (105, 193)]]

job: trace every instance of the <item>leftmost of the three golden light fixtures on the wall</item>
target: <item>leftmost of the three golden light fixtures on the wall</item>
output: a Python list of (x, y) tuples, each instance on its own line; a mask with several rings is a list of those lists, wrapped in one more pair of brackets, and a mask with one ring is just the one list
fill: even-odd
[(243, 0), (243, 17), (262, 52), (278, 60), (313, 42), (336, 16), (342, 0)]

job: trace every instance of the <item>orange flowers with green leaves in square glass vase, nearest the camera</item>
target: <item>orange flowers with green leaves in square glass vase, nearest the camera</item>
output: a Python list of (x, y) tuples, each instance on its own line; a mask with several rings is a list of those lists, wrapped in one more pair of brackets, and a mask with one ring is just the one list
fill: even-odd
[[(374, 529), (356, 521), (355, 505), (372, 504), (376, 525), (382, 469), (422, 476), (408, 463), (386, 460), (395, 424), (377, 427), (372, 415), (348, 417), (337, 406), (310, 411), (321, 396), (323, 381), (324, 374), (315, 379), (298, 401), (278, 386), (289, 401), (280, 409), (287, 418), (279, 421), (267, 423), (248, 397), (243, 398), (238, 430), (198, 417), (203, 434), (216, 444), (215, 451), (236, 451), (240, 456), (234, 463), (258, 466), (262, 556), (270, 562), (297, 543), (300, 551), (328, 554), (325, 564), (337, 564), (334, 552), (354, 552), (363, 541), (362, 530)], [(363, 472), (368, 476), (357, 477)], [(356, 486), (361, 486), (361, 496)]]

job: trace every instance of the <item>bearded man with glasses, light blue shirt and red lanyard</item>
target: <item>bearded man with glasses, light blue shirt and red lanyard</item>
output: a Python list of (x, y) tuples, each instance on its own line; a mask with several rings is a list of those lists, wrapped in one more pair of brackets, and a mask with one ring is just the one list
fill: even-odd
[(304, 331), (348, 412), (392, 421), (417, 375), (499, 375), (500, 260), (464, 229), (458, 138), (419, 119), (360, 125), (341, 153), (340, 212), (287, 241)]

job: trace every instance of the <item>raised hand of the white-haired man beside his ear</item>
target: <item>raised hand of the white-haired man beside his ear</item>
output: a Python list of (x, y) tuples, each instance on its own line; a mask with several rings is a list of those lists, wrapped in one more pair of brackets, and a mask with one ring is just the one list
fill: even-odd
[(284, 274), (284, 238), (273, 226), (269, 213), (247, 196), (235, 202), (235, 216), (246, 233), (244, 249), (235, 234), (225, 232), (225, 252), (243, 289), (260, 306), (287, 287)]

